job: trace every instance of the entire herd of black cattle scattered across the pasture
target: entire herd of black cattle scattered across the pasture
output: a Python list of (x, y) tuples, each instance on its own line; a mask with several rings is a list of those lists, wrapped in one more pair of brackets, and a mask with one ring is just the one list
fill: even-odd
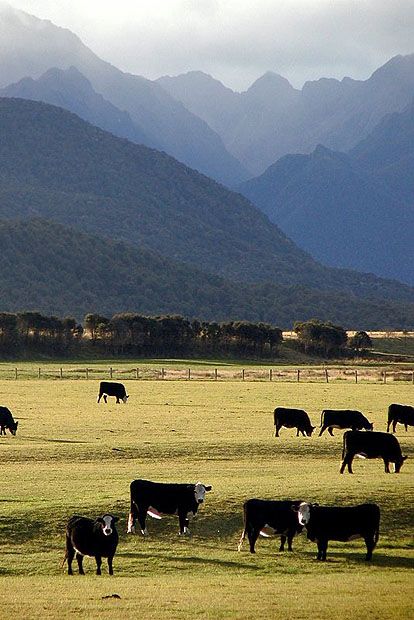
[[(116, 402), (126, 403), (128, 395), (121, 383), (102, 381), (100, 383), (98, 403), (107, 396), (114, 396)], [(359, 411), (329, 410), (321, 415), (319, 437), (328, 430), (333, 436), (333, 429), (350, 429), (343, 436), (343, 453), (340, 473), (345, 467), (352, 472), (352, 461), (355, 456), (362, 458), (382, 458), (385, 471), (390, 472), (389, 465), (394, 463), (398, 473), (407, 458), (401, 453), (401, 447), (394, 435), (390, 435), (390, 427), (395, 433), (396, 425), (414, 426), (414, 407), (392, 404), (388, 408), (387, 432), (374, 432), (373, 424)], [(310, 437), (315, 430), (308, 414), (302, 409), (277, 407), (274, 410), (275, 435), (279, 437), (282, 427), (296, 428), (296, 435)], [(8, 429), (16, 434), (18, 422), (14, 420), (7, 407), (0, 407), (0, 435)], [(211, 490), (201, 482), (195, 484), (159, 483), (149, 480), (133, 480), (130, 485), (131, 507), (128, 518), (128, 533), (135, 532), (136, 521), (143, 536), (148, 534), (146, 528), (147, 515), (160, 519), (163, 514), (177, 515), (180, 534), (188, 534), (189, 517), (194, 516), (204, 502), (205, 495)], [(315, 541), (318, 547), (318, 560), (326, 560), (328, 542), (330, 540), (346, 542), (355, 538), (363, 538), (370, 560), (378, 542), (380, 509), (377, 504), (361, 504), (359, 506), (319, 506), (304, 500), (263, 500), (249, 499), (244, 503), (244, 529), (238, 545), (241, 550), (243, 540), (248, 537), (250, 552), (255, 553), (255, 544), (259, 537), (269, 536), (270, 532), (280, 535), (280, 551), (288, 543), (292, 551), (292, 541), (305, 527), (307, 537)], [(116, 529), (117, 517), (105, 514), (95, 520), (74, 515), (66, 527), (66, 554), (68, 574), (72, 575), (72, 562), (76, 557), (79, 573), (83, 571), (83, 557), (94, 557), (98, 575), (101, 574), (102, 558), (107, 558), (109, 574), (113, 574), (113, 558), (118, 545)]]

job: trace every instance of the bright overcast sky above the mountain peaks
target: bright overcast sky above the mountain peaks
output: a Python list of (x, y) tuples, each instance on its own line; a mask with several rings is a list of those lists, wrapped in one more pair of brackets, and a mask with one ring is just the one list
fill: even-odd
[(202, 70), (235, 90), (266, 71), (295, 86), (365, 79), (414, 52), (414, 0), (9, 0), (150, 79)]

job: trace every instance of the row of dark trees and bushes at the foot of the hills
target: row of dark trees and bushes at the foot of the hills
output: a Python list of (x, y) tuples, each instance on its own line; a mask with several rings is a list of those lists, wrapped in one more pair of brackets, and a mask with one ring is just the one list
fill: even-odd
[[(298, 347), (324, 357), (341, 355), (349, 346), (355, 351), (371, 346), (365, 332), (358, 332), (352, 343), (342, 327), (317, 319), (297, 322), (294, 330)], [(248, 321), (218, 323), (180, 315), (124, 312), (111, 318), (89, 313), (80, 324), (73, 317), (62, 319), (40, 312), (0, 313), (3, 359), (36, 355), (272, 359), (278, 356), (282, 341), (278, 327)]]

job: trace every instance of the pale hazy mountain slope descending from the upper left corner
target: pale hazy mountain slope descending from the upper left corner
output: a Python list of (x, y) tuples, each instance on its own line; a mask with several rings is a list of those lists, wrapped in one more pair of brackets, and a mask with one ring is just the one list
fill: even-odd
[[(226, 184), (248, 177), (207, 123), (159, 84), (98, 58), (69, 30), (0, 4), (0, 41), (0, 87), (25, 77), (37, 79), (51, 68), (76, 67), (96, 93), (129, 114), (148, 146)], [(99, 115), (88, 120), (98, 124)], [(134, 134), (128, 138), (134, 139)]]

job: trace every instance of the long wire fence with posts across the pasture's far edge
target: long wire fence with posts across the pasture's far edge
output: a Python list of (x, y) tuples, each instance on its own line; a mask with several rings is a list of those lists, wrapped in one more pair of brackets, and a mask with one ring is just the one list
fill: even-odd
[(85, 379), (115, 381), (274, 381), (289, 383), (387, 383), (414, 384), (414, 368), (48, 368), (0, 367), (0, 379)]

